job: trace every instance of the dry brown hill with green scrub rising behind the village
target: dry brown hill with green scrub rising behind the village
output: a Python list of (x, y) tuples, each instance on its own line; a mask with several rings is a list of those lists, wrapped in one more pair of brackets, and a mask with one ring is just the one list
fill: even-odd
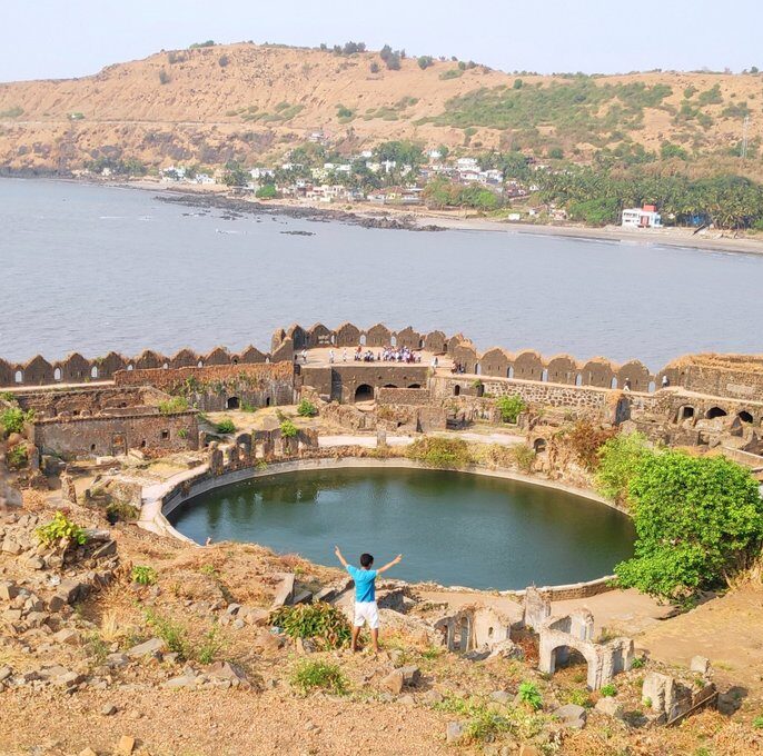
[(160, 52), (81, 79), (0, 84), (0, 167), (68, 171), (98, 157), (252, 163), (318, 130), (346, 151), (415, 139), (581, 159), (618, 145), (658, 151), (664, 141), (727, 157), (747, 113), (753, 153), (763, 133), (757, 74), (516, 80), (454, 61), (423, 70), (404, 59), (388, 70), (371, 52), (248, 43)]

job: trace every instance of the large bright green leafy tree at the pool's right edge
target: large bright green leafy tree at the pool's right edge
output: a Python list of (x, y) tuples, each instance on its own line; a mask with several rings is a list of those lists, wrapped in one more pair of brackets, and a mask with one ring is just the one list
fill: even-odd
[(628, 487), (636, 544), (615, 567), (620, 584), (677, 600), (727, 580), (760, 555), (757, 487), (725, 457), (670, 450), (646, 459)]

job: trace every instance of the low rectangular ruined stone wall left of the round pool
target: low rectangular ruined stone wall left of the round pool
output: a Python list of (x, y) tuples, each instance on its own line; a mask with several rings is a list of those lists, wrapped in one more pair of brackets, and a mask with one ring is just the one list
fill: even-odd
[(142, 408), (121, 417), (93, 416), (48, 419), (34, 424), (34, 445), (43, 454), (65, 457), (126, 454), (129, 449), (148, 452), (186, 451), (198, 448), (196, 412), (160, 415)]

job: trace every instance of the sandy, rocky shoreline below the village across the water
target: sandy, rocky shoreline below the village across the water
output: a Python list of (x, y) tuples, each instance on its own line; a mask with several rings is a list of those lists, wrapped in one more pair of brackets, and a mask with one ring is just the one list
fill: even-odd
[[(721, 253), (763, 255), (763, 237), (733, 238), (726, 232), (708, 231), (702, 236), (684, 228), (668, 227), (652, 230), (632, 230), (618, 226), (595, 228), (581, 225), (528, 223), (521, 221), (495, 220), (462, 211), (429, 210), (424, 207), (404, 208), (393, 206), (370, 207), (361, 205), (334, 206), (321, 202), (296, 200), (255, 200), (246, 196), (232, 197), (226, 187), (215, 186), (174, 186), (155, 180), (98, 180), (57, 176), (2, 176), (27, 180), (63, 181), (89, 186), (115, 187), (151, 191), (160, 201), (177, 202), (190, 207), (215, 207), (235, 212), (261, 212), (280, 215), (314, 222), (338, 221), (358, 225), (364, 228), (378, 228), (410, 231), (490, 231), (509, 235), (547, 236), (556, 238), (608, 241), (627, 246), (671, 247)], [(717, 236), (711, 236), (717, 235)]]

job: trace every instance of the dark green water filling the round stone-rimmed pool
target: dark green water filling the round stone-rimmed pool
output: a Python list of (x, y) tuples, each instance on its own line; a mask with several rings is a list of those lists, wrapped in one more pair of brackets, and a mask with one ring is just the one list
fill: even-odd
[(363, 551), (390, 577), (524, 588), (610, 574), (632, 554), (631, 520), (552, 488), (466, 472), (335, 469), (258, 478), (200, 496), (170, 516), (196, 541), (250, 541), (336, 565)]

